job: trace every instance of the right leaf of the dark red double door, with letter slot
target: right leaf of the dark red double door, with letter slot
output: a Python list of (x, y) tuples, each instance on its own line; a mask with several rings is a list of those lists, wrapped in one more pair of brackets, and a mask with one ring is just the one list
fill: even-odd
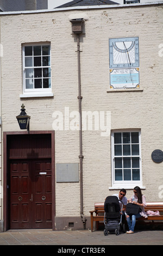
[(51, 160), (33, 161), (33, 226), (52, 228)]

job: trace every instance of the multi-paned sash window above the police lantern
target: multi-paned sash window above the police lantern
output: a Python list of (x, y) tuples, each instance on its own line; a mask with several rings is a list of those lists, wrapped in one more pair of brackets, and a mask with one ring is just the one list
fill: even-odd
[(51, 91), (51, 47), (23, 46), (23, 93)]

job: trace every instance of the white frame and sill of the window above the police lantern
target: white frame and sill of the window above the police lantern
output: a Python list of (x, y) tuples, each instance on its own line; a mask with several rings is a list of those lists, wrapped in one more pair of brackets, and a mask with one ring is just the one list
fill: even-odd
[[(26, 88), (26, 70), (28, 69), (27, 67), (25, 67), (25, 47), (26, 46), (45, 46), (48, 45), (50, 46), (49, 48), (49, 56), (50, 56), (50, 65), (49, 66), (40, 66), (38, 68), (49, 68), (51, 70), (51, 77), (49, 77), (51, 79), (51, 87), (50, 88), (33, 88), (33, 89), (27, 89)], [(32, 56), (34, 58), (34, 55)], [(42, 55), (41, 55), (42, 57)], [(23, 67), (23, 94), (20, 94), (20, 97), (46, 97), (46, 96), (53, 96), (52, 93), (52, 66), (51, 66), (51, 60), (52, 59), (52, 55), (51, 55), (51, 44), (50, 42), (42, 42), (42, 43), (33, 43), (33, 44), (24, 44), (22, 45), (22, 67)], [(29, 68), (35, 68), (34, 66), (34, 59), (33, 59), (33, 66), (30, 66)], [(41, 77), (43, 78), (43, 77)]]

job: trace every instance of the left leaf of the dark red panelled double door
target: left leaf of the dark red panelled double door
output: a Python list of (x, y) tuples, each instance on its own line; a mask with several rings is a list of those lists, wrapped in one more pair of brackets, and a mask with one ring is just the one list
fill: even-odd
[(10, 162), (10, 228), (30, 228), (32, 223), (30, 162)]

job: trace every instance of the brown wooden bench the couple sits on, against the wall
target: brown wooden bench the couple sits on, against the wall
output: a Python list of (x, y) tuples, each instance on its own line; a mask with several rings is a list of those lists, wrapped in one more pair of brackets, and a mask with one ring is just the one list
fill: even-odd
[[(138, 218), (137, 221), (149, 222), (162, 224), (163, 222), (163, 202), (149, 202), (145, 208), (145, 211), (159, 211), (160, 216), (148, 216), (148, 218)], [(91, 231), (93, 232), (93, 222), (96, 221), (96, 229), (98, 230), (99, 221), (104, 222), (104, 203), (95, 203), (95, 210), (90, 211), (91, 214)], [(151, 222), (150, 222), (151, 224)]]

